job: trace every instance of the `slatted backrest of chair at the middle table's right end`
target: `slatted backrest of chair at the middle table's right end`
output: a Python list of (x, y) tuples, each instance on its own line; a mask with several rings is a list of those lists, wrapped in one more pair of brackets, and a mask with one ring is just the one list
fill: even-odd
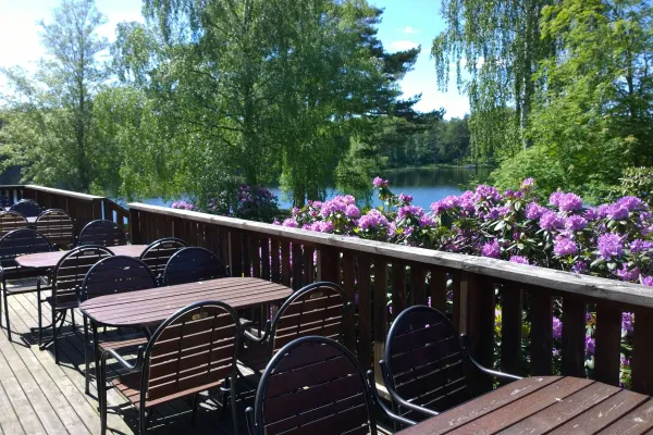
[(295, 291), (280, 307), (272, 321), (271, 355), (292, 340), (307, 335), (340, 341), (347, 307), (347, 296), (335, 283), (313, 283)]

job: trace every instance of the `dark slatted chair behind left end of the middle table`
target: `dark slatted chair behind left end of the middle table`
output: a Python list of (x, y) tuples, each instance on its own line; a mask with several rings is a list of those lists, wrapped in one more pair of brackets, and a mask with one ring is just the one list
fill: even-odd
[[(136, 291), (157, 286), (157, 278), (143, 261), (127, 256), (113, 256), (98, 261), (86, 274), (79, 293), (79, 300), (88, 300), (98, 296), (114, 295), (120, 293)], [(88, 337), (88, 318), (84, 316), (84, 359), (86, 362), (86, 393), (89, 391), (90, 371), (88, 347), (90, 345)], [(96, 362), (96, 380), (98, 381), (98, 391), (100, 391), (100, 381), (97, 377), (97, 368), (99, 365), (99, 352), (103, 348), (120, 347), (120, 341), (128, 343), (128, 346), (135, 346), (138, 339), (134, 337), (120, 337), (115, 340), (100, 341), (98, 336), (98, 325), (90, 322), (93, 333), (93, 348)], [(141, 340), (145, 343), (145, 338)]]

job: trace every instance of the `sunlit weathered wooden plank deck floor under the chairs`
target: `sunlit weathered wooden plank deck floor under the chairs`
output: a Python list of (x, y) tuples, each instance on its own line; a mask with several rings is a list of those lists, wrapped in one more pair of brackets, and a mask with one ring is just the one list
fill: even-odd
[[(100, 419), (96, 388), (84, 393), (84, 347), (81, 331), (72, 331), (70, 315), (60, 343), (61, 364), (54, 363), (51, 347), (39, 350), (36, 335), (29, 328), (37, 325), (36, 294), (10, 296), (10, 321), (13, 343), (0, 333), (0, 433), (2, 434), (98, 434)], [(50, 311), (44, 304), (44, 324)], [(77, 313), (76, 321), (82, 316)], [(49, 331), (47, 332), (49, 333)], [(254, 380), (238, 384), (238, 415), (251, 405)], [(221, 417), (220, 394), (202, 397), (196, 424), (190, 421), (186, 400), (156, 408), (149, 433), (184, 433), (235, 435), (231, 412)], [(109, 433), (137, 433), (137, 413), (115, 390), (108, 391)], [(243, 419), (239, 433), (245, 434)]]

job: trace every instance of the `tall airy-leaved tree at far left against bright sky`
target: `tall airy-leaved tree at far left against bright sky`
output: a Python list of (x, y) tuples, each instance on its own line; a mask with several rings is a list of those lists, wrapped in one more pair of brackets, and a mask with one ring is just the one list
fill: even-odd
[(40, 22), (46, 57), (30, 77), (2, 70), (8, 125), (3, 165), (21, 164), (25, 179), (88, 191), (98, 149), (93, 99), (107, 79), (100, 55), (108, 48), (97, 29), (106, 23), (94, 0), (64, 0), (49, 23)]

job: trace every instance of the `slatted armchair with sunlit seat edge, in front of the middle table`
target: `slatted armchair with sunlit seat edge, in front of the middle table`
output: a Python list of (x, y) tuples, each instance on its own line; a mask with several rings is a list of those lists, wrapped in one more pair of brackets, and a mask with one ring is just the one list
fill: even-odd
[[(195, 422), (199, 393), (229, 383), (234, 433), (238, 433), (236, 358), (239, 336), (238, 314), (233, 308), (222, 301), (193, 303), (172, 314), (157, 328), (147, 346), (138, 348), (134, 364), (126, 362), (114, 349), (103, 350), (101, 382), (106, 383), (109, 357), (130, 371), (112, 384), (137, 408), (140, 434), (147, 431), (147, 414), (151, 408), (194, 397)], [(107, 399), (103, 395), (100, 397), (100, 419), (104, 434)]]

